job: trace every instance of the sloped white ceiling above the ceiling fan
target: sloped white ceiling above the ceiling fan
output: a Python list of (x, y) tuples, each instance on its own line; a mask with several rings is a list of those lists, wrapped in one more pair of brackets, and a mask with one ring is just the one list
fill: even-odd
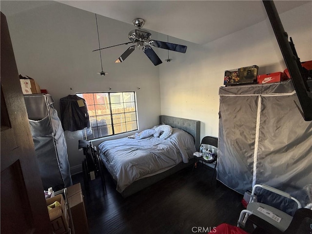
[[(145, 20), (143, 28), (171, 37), (206, 44), (252, 26), (267, 18), (260, 0), (58, 0), (82, 10), (132, 24)], [(279, 13), (309, 1), (275, 0)], [(0, 1), (1, 11), (11, 15), (55, 1)]]

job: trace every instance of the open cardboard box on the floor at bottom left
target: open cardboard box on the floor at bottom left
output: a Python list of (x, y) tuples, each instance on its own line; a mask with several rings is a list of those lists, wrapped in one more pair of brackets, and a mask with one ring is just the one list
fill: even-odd
[(69, 216), (65, 209), (65, 202), (63, 195), (59, 194), (54, 197), (46, 199), (46, 204), (51, 205), (58, 201), (60, 206), (49, 210), (49, 217), (52, 225), (53, 232), (55, 234), (67, 234), (68, 233), (68, 222)]

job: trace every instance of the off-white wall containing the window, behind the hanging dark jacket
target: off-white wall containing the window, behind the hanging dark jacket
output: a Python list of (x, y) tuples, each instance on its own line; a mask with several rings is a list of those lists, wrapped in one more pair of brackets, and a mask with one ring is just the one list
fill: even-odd
[[(109, 74), (97, 74), (101, 64), (99, 53), (92, 52), (98, 49), (95, 14), (53, 2), (7, 16), (7, 21), (19, 73), (34, 78), (41, 89), (47, 89), (58, 112), (59, 99), (73, 92), (135, 91), (139, 130), (158, 123), (158, 68), (141, 50), (134, 51), (122, 63), (115, 60), (130, 45), (102, 50), (103, 70)], [(128, 42), (128, 32), (134, 26), (98, 16), (98, 28), (101, 47), (106, 47)], [(65, 135), (72, 173), (77, 173), (84, 158), (78, 151), (81, 131), (66, 131)]]

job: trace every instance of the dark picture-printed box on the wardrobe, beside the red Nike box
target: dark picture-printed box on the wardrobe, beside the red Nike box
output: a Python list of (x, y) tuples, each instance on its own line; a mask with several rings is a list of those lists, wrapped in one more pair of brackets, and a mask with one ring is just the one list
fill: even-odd
[(225, 71), (224, 85), (254, 84), (258, 75), (258, 66), (241, 67)]

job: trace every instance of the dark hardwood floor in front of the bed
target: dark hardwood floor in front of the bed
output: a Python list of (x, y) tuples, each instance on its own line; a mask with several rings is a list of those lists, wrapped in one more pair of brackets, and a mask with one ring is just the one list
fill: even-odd
[(242, 195), (215, 178), (211, 183), (212, 175), (202, 164), (188, 167), (127, 198), (106, 172), (106, 191), (100, 178), (90, 181), (89, 193), (82, 174), (72, 179), (81, 183), (90, 234), (192, 234), (236, 225), (243, 210)]

